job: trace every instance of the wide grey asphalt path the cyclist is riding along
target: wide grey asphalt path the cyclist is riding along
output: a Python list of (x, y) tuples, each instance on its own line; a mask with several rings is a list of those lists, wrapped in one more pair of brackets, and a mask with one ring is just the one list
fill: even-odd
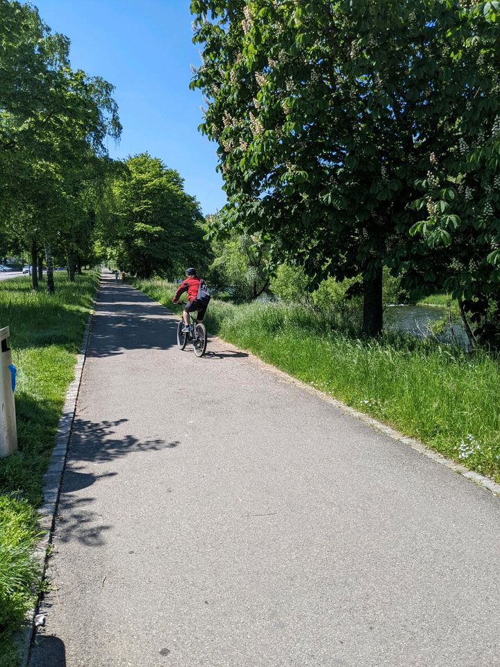
[(176, 322), (103, 283), (31, 667), (500, 666), (500, 500)]

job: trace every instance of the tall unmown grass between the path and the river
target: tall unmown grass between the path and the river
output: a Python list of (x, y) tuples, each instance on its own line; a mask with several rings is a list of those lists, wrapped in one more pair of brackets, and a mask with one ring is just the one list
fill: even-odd
[[(174, 285), (135, 286), (172, 308)], [(303, 306), (217, 299), (206, 318), (213, 334), (500, 482), (496, 359), (410, 336), (361, 340), (332, 322)]]

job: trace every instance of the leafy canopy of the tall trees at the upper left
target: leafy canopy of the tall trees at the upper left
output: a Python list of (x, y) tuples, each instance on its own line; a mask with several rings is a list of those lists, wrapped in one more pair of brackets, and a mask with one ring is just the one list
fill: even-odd
[(122, 130), (113, 86), (74, 71), (69, 40), (33, 6), (0, 0), (0, 15), (0, 224), (35, 263), (40, 245), (71, 256), (88, 226), (85, 192), (106, 169), (106, 139)]

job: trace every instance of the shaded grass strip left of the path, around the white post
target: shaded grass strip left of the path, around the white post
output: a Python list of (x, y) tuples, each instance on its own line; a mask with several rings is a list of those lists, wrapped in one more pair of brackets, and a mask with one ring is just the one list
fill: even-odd
[(10, 327), (17, 367), (15, 393), (19, 451), (0, 459), (0, 667), (15, 665), (10, 639), (33, 604), (39, 584), (31, 559), (38, 538), (35, 507), (42, 476), (73, 379), (75, 354), (97, 289), (89, 272), (69, 283), (55, 274), (56, 295), (31, 290), (29, 277), (0, 282), (0, 327)]

